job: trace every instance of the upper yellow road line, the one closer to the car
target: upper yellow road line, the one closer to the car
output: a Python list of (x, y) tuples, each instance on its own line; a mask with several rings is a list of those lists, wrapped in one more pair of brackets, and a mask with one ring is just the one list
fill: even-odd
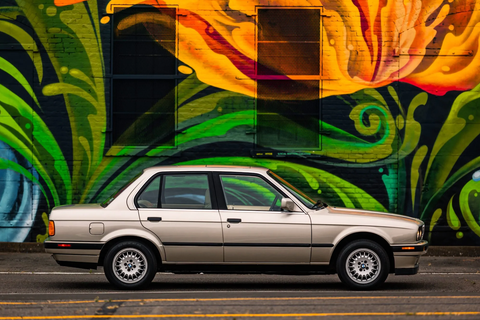
[[(480, 299), (478, 296), (377, 296), (377, 297), (277, 297), (277, 298), (189, 298), (189, 299), (126, 299), (126, 300), (74, 300), (74, 301), (40, 301), (40, 302), (7, 302), (0, 305), (43, 305), (43, 304), (82, 304), (106, 302), (205, 302), (205, 301), (286, 301), (286, 300), (375, 300), (375, 299)], [(0, 318), (2, 319), (2, 318)]]

